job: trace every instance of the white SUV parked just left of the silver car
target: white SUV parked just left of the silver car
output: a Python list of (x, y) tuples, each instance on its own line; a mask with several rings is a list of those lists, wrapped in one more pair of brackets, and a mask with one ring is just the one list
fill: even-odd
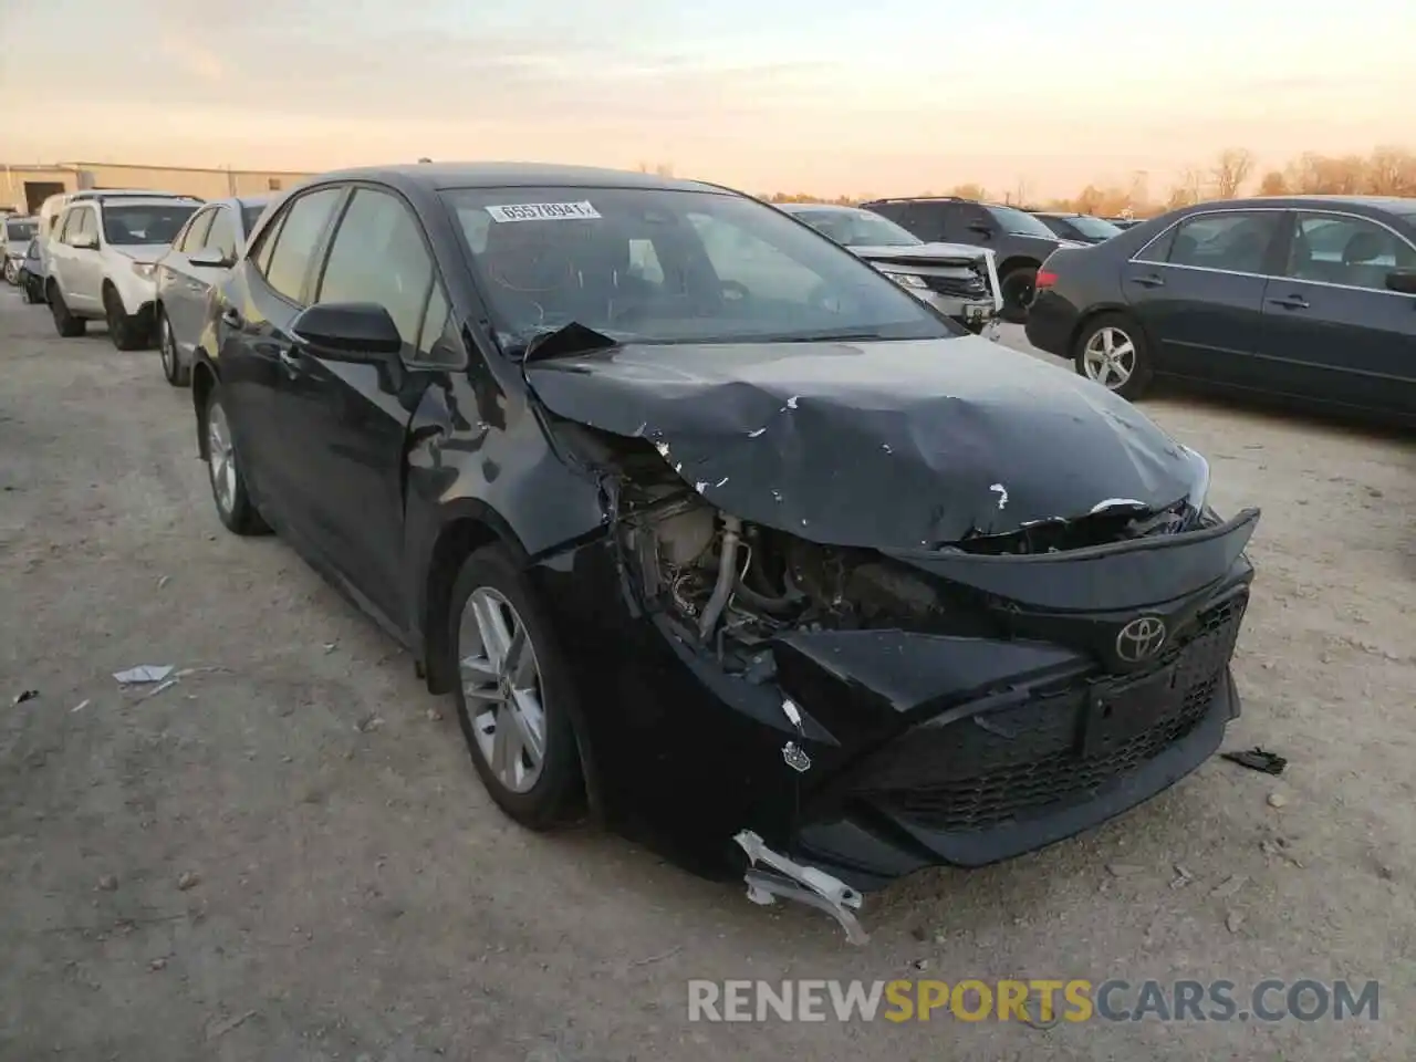
[(119, 350), (140, 350), (153, 334), (153, 263), (201, 200), (123, 193), (75, 200), (48, 242), (45, 286), (59, 336), (82, 336), (91, 320), (108, 323)]

